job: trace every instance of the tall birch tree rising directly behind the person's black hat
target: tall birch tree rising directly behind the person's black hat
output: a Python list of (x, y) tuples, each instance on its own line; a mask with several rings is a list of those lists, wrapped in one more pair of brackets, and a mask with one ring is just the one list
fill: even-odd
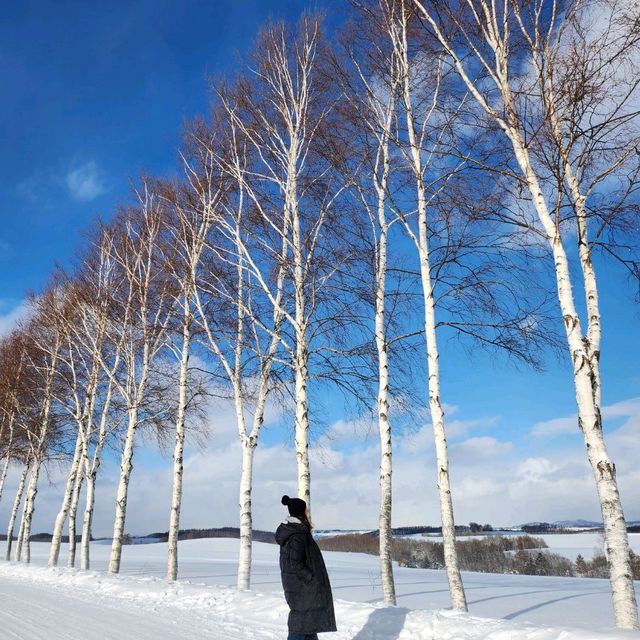
[[(275, 251), (282, 243), (288, 247), (286, 286), (291, 296), (284, 300), (291, 299), (291, 304), (278, 303), (277, 291), (246, 251), (243, 260), (270, 303), (280, 307), (280, 344), (288, 353), (294, 379), (298, 495), (309, 507), (308, 385), (315, 333), (311, 327), (322, 306), (323, 288), (335, 272), (335, 262), (325, 262), (323, 252), (330, 246), (327, 221), (335, 220), (331, 212), (341, 193), (323, 157), (322, 151), (329, 149), (321, 150), (321, 131), (328, 127), (334, 99), (327, 77), (320, 73), (321, 48), (317, 18), (303, 17), (296, 33), (284, 24), (269, 27), (258, 40), (251, 76), (242, 85), (244, 95), (227, 106), (230, 121), (257, 157), (249, 169), (252, 183), (260, 185), (272, 205), (257, 209), (260, 224), (277, 238), (272, 243)], [(249, 191), (247, 195), (251, 197)], [(285, 326), (291, 332), (286, 342)]]

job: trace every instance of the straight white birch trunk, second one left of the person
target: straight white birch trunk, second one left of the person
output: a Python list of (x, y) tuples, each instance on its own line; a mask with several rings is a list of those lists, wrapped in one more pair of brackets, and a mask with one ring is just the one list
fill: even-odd
[(185, 412), (187, 405), (187, 374), (191, 347), (191, 299), (186, 296), (180, 372), (178, 378), (178, 411), (176, 416), (176, 443), (173, 451), (173, 491), (169, 517), (169, 539), (167, 545), (167, 580), (178, 577), (178, 537), (180, 532), (180, 506), (182, 504), (182, 474), (184, 471)]

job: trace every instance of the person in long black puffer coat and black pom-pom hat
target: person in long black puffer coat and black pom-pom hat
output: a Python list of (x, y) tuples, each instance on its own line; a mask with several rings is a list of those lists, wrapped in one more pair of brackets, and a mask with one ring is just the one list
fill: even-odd
[(288, 640), (318, 640), (318, 633), (337, 631), (333, 595), (322, 553), (311, 536), (307, 503), (282, 496), (289, 517), (278, 527), (280, 574), (289, 612)]

